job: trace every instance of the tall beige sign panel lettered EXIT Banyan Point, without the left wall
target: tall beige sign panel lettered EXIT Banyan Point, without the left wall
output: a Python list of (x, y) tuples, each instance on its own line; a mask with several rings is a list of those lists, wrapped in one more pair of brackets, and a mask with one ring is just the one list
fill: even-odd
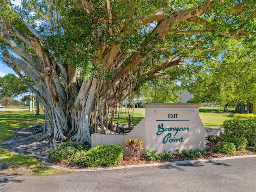
[[(186, 107), (185, 107), (186, 106)], [(150, 104), (146, 106), (146, 148), (158, 152), (205, 148), (206, 130), (198, 105)]]

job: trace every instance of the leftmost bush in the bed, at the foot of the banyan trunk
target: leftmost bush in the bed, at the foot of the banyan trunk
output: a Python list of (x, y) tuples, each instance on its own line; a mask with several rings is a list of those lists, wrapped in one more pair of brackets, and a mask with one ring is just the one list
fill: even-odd
[[(56, 148), (49, 150), (48, 159), (56, 162), (76, 163), (80, 158), (81, 151), (87, 151), (89, 148), (86, 144), (79, 142), (64, 142), (57, 145)], [(83, 155), (85, 152), (83, 153)]]

